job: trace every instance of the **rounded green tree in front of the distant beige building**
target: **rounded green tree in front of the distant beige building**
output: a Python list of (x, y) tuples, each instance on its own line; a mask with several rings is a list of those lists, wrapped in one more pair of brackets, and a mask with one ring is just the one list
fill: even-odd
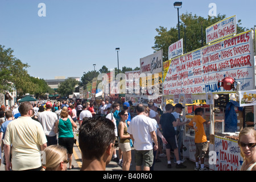
[(68, 96), (73, 94), (78, 84), (79, 81), (77, 81), (75, 78), (67, 78), (64, 82), (60, 83), (57, 92), (61, 94), (61, 96)]

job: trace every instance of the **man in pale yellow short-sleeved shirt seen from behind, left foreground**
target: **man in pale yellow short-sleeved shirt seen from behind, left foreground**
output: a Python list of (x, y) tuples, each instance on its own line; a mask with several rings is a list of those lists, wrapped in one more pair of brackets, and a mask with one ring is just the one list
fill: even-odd
[(42, 125), (30, 117), (32, 110), (30, 102), (22, 102), (21, 116), (7, 125), (4, 143), (8, 171), (40, 171), (42, 168), (40, 151), (47, 147), (47, 139)]

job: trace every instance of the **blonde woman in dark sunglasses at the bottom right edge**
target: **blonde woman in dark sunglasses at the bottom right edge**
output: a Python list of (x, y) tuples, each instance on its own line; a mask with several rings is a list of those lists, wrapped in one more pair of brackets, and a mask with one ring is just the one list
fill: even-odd
[(241, 171), (256, 171), (256, 130), (245, 127), (238, 135), (243, 164)]

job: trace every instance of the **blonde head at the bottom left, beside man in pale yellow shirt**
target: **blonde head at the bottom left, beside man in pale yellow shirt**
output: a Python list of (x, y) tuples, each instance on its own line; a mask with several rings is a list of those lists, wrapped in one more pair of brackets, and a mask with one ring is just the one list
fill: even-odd
[[(68, 156), (67, 149), (57, 144), (51, 145), (44, 149), (46, 164), (42, 171), (66, 171)], [(44, 155), (43, 155), (44, 156)]]

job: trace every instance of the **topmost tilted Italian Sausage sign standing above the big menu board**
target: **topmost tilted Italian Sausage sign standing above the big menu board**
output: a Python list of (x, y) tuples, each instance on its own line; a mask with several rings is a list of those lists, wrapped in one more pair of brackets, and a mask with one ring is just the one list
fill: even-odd
[(216, 40), (226, 38), (230, 35), (237, 34), (237, 18), (236, 15), (221, 20), (205, 29), (206, 41), (212, 43)]

